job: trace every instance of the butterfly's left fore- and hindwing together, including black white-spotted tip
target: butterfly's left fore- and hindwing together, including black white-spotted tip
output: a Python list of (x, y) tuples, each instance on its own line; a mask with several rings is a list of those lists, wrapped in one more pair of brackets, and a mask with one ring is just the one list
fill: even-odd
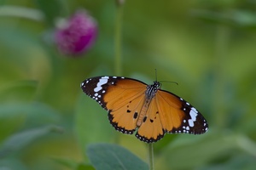
[(122, 133), (133, 133), (147, 85), (125, 77), (93, 77), (82, 82), (85, 94), (108, 111), (108, 119)]

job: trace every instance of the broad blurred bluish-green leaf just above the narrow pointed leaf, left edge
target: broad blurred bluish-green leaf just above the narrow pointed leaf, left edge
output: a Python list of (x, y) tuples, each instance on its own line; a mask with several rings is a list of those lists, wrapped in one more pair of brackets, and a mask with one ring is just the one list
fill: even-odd
[(0, 140), (19, 127), (34, 127), (59, 121), (59, 113), (42, 103), (0, 104)]

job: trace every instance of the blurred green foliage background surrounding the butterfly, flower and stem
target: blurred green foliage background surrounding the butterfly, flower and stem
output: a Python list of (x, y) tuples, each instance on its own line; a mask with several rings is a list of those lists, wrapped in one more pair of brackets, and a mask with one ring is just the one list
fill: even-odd
[[(96, 44), (79, 58), (52, 42), (58, 17), (85, 8)], [(117, 143), (147, 161), (147, 146), (115, 132), (79, 88), (115, 75), (113, 0), (0, 1), (0, 168), (86, 169), (88, 144)], [(156, 169), (255, 169), (256, 1), (135, 1), (123, 13), (122, 75), (186, 99), (209, 123), (203, 135), (167, 134)], [(84, 166), (84, 167), (83, 167)], [(88, 167), (90, 168), (90, 167)]]

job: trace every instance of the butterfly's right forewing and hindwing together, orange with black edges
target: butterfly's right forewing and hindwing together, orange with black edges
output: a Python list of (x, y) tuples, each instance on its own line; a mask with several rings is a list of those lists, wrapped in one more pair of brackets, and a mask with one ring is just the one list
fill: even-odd
[(177, 95), (158, 90), (147, 111), (147, 120), (137, 130), (137, 138), (156, 142), (165, 133), (207, 132), (208, 124), (199, 111)]

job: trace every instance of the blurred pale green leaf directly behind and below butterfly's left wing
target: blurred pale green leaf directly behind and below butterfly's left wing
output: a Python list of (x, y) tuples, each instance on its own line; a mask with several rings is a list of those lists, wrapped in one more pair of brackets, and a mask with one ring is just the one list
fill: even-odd
[(75, 131), (81, 148), (94, 142), (113, 141), (115, 137), (115, 130), (108, 121), (108, 111), (82, 92), (76, 107)]

